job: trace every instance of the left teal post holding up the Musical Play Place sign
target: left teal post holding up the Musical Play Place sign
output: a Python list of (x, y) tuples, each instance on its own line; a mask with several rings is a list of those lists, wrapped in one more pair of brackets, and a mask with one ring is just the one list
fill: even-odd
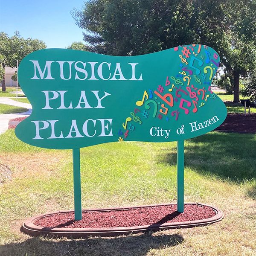
[(80, 148), (73, 149), (73, 178), (74, 178), (75, 220), (79, 221), (82, 219)]

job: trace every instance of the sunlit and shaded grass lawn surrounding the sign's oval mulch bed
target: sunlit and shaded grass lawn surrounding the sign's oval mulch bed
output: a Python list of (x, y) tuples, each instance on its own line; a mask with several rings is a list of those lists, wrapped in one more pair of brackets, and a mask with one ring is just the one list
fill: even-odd
[[(0, 255), (254, 255), (255, 152), (255, 134), (211, 132), (185, 141), (185, 201), (222, 209), (218, 223), (116, 238), (32, 238), (20, 233), (27, 218), (73, 209), (72, 151), (35, 148), (8, 130), (0, 136), (0, 163), (12, 170), (12, 180), (0, 184)], [(175, 142), (82, 148), (82, 207), (175, 202), (176, 153)]]

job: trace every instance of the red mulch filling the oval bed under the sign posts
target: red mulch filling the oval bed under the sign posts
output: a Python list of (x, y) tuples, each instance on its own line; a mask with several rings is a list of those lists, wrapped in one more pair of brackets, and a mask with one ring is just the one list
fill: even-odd
[(36, 219), (41, 227), (109, 228), (136, 227), (181, 221), (196, 221), (214, 217), (216, 212), (208, 206), (185, 204), (184, 212), (177, 212), (177, 205), (138, 207), (107, 211), (83, 211), (81, 221), (74, 220), (74, 212), (56, 213)]

